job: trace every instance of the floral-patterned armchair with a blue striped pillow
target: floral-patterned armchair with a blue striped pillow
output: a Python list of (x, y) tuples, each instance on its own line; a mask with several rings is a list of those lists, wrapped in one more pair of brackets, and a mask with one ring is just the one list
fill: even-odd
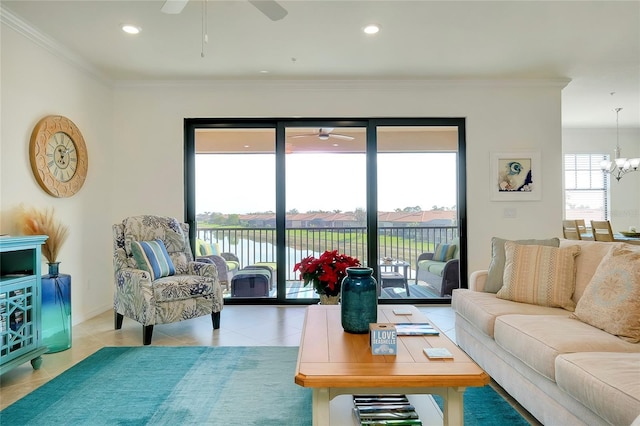
[[(154, 253), (145, 254), (147, 246), (160, 248), (158, 258), (173, 268), (160, 268), (164, 272), (158, 274)], [(134, 319), (149, 345), (155, 324), (211, 315), (213, 328), (220, 328), (218, 271), (214, 264), (193, 261), (188, 224), (161, 216), (126, 218), (113, 225), (113, 251), (116, 329), (122, 328), (123, 317)]]

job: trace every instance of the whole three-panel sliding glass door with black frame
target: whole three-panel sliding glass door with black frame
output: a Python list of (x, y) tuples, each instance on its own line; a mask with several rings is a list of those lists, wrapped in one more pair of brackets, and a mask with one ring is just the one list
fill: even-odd
[[(372, 267), (381, 303), (448, 303), (464, 182), (463, 119), (185, 120), (185, 220), (224, 257), (225, 303), (317, 301), (293, 269), (325, 250)], [(421, 263), (439, 245), (455, 280)]]

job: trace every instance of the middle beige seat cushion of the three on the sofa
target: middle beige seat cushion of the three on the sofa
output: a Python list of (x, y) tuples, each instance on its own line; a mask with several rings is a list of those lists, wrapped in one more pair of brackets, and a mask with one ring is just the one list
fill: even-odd
[(499, 346), (553, 381), (560, 354), (640, 352), (640, 345), (561, 315), (502, 315), (496, 319), (494, 336)]

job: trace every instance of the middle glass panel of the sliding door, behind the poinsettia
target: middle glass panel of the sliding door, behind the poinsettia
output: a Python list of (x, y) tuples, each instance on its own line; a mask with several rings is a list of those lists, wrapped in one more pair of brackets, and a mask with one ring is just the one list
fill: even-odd
[[(287, 127), (285, 141), (287, 271), (325, 250), (366, 264), (366, 129)], [(316, 297), (289, 279), (287, 298)]]

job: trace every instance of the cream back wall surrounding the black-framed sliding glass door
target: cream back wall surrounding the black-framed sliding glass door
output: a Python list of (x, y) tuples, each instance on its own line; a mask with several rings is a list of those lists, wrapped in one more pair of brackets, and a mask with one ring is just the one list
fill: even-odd
[[(469, 271), (485, 269), (492, 236), (561, 233), (562, 86), (557, 81), (122, 84), (115, 90), (114, 149), (124, 172), (113, 181), (120, 193), (114, 220), (145, 211), (183, 216), (185, 117), (466, 117)], [(540, 151), (540, 201), (489, 200), (490, 153), (514, 150)], [(172, 202), (161, 194), (171, 194)], [(505, 208), (515, 209), (516, 218), (503, 218)]]

